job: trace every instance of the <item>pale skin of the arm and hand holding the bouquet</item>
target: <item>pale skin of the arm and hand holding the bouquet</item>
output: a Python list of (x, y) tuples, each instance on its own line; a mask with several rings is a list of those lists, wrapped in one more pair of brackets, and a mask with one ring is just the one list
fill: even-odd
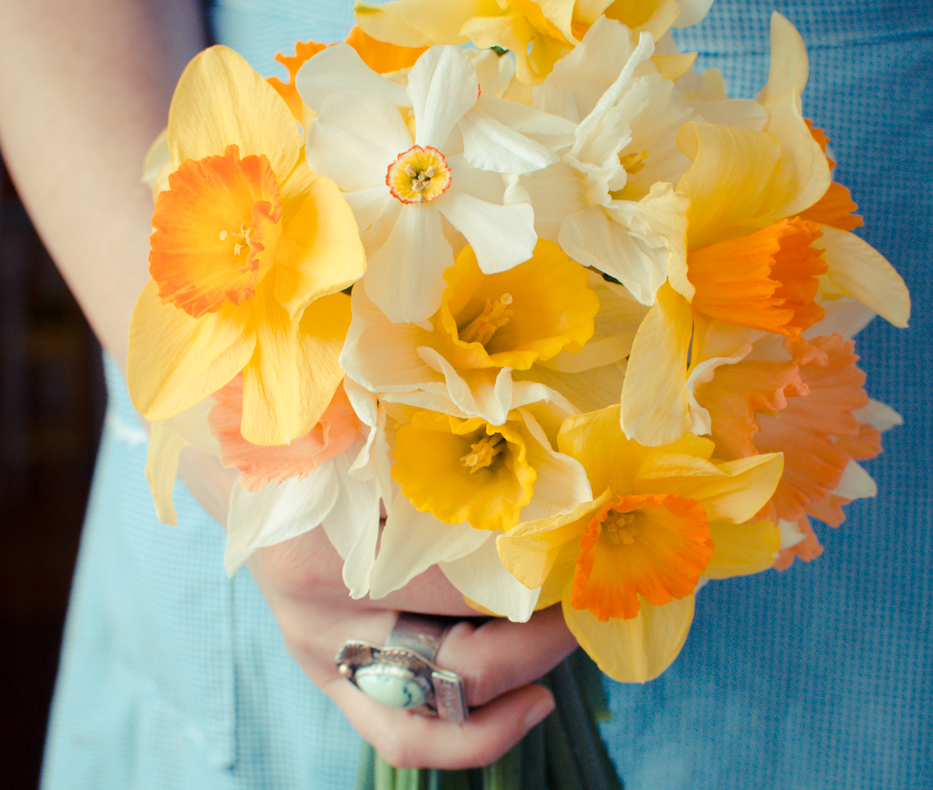
[[(143, 157), (164, 128), (175, 81), (203, 46), (191, 0), (0, 0), (0, 145), (43, 241), (104, 348), (126, 359), (148, 279), (152, 197)], [(207, 456), (182, 476), (220, 523), (235, 475)], [(183, 528), (183, 525), (182, 525)], [(462, 768), (495, 760), (553, 707), (535, 680), (576, 646), (559, 609), (529, 623), (458, 625), (438, 663), (464, 677), (466, 724), (386, 708), (341, 678), (351, 638), (381, 642), (398, 611), (475, 614), (433, 569), (391, 596), (353, 601), (323, 531), (253, 557), (250, 570), (308, 677), (392, 764)]]

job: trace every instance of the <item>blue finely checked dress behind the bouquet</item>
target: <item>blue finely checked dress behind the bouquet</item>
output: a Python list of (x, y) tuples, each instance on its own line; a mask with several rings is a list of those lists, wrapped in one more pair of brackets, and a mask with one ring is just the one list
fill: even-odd
[[(342, 39), (348, 6), (226, 0), (217, 37), (273, 73), (296, 39)], [(752, 96), (772, 9), (807, 43), (805, 114), (832, 139), (867, 218), (859, 233), (913, 295), (910, 330), (876, 320), (858, 341), (870, 394), (906, 425), (869, 464), (879, 497), (851, 505), (838, 530), (817, 526), (824, 555), (710, 584), (673, 667), (610, 684), (604, 735), (629, 790), (930, 788), (933, 4), (718, 0), (679, 40)], [(250, 575), (227, 580), (220, 527), (181, 485), (181, 526), (156, 521), (145, 435), (107, 373), (44, 787), (352, 787), (357, 736), (285, 651)]]

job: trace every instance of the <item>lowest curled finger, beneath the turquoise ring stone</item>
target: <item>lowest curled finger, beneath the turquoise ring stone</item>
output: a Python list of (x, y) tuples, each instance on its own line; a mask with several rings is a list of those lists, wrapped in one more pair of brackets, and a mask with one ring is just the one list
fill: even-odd
[(554, 709), (551, 692), (531, 685), (476, 709), (465, 723), (454, 724), (387, 708), (346, 681), (329, 684), (325, 690), (360, 735), (396, 768), (457, 770), (488, 765)]

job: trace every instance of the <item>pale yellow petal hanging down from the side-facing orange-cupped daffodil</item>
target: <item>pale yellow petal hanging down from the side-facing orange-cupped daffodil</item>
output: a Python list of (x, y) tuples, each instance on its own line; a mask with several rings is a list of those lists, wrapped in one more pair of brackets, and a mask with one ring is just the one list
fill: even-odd
[(662, 286), (635, 335), (622, 385), (621, 427), (630, 439), (658, 446), (692, 429), (685, 386), (692, 332), (690, 305)]

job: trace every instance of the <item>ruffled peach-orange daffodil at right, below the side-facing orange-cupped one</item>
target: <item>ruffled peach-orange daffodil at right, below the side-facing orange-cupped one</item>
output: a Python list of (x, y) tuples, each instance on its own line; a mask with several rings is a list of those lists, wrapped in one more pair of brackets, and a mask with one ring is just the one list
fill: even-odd
[[(695, 377), (693, 386), (697, 406), (709, 414), (717, 455), (784, 455), (784, 474), (765, 511), (790, 539), (781, 567), (794, 555), (809, 560), (821, 551), (810, 517), (838, 526), (845, 518), (841, 505), (875, 495), (858, 462), (875, 457), (880, 432), (899, 423), (869, 400), (855, 365), (851, 336), (874, 315), (853, 299), (826, 307), (826, 319), (806, 334), (806, 343), (710, 322), (694, 345), (704, 360), (700, 367), (712, 354), (723, 363)], [(742, 345), (733, 352), (737, 342)]]

